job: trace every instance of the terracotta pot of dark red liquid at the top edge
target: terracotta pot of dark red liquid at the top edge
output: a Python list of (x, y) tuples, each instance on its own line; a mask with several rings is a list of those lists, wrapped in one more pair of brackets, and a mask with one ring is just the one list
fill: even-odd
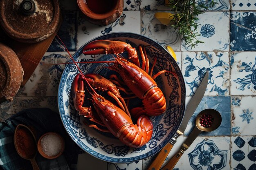
[(124, 0), (77, 0), (77, 4), (89, 22), (104, 26), (115, 22), (124, 10)]

